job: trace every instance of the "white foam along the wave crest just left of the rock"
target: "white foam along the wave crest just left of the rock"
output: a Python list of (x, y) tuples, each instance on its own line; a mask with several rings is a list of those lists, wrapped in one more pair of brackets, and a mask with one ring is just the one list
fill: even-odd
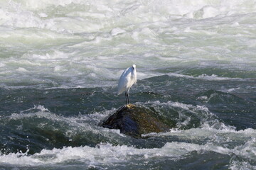
[[(65, 135), (66, 137), (72, 138), (75, 134), (74, 132), (93, 132), (95, 134), (102, 135), (111, 139), (112, 137), (126, 137), (125, 135), (120, 133), (120, 130), (111, 130), (108, 128), (99, 127), (98, 124), (100, 121), (104, 120), (107, 115), (113, 113), (116, 109), (112, 108), (111, 110), (95, 112), (85, 115), (78, 115), (74, 117), (64, 117), (63, 115), (56, 115), (41, 105), (36, 105), (33, 108), (28, 108), (25, 111), (21, 111), (20, 113), (12, 113), (9, 116), (3, 116), (3, 119), (6, 119), (4, 124), (8, 124), (9, 121), (12, 120), (23, 120), (27, 118), (45, 118), (47, 119), (47, 123), (40, 123), (38, 128), (45, 128), (46, 126), (51, 126), (52, 123), (60, 123), (61, 125), (65, 125)], [(21, 129), (22, 130), (22, 124)]]

